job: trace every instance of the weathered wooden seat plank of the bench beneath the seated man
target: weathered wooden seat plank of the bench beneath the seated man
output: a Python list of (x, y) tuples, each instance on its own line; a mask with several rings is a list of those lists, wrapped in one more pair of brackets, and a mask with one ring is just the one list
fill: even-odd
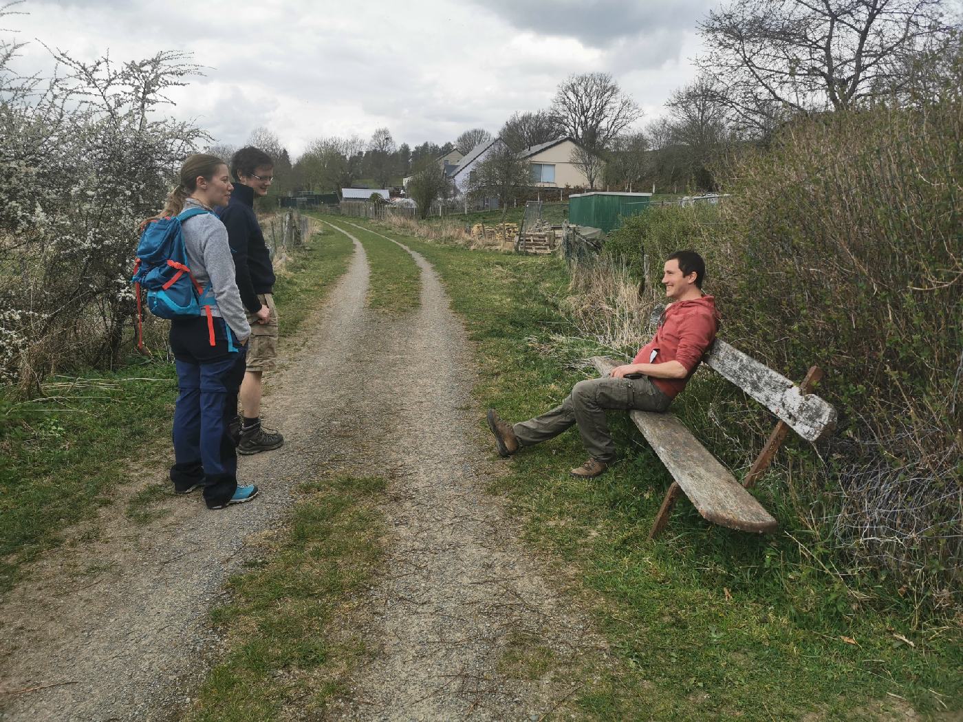
[[(604, 356), (596, 356), (592, 362), (603, 375), (618, 366)], [(629, 416), (703, 518), (742, 531), (762, 533), (777, 529), (776, 520), (763, 505), (675, 416), (638, 410), (630, 411)]]

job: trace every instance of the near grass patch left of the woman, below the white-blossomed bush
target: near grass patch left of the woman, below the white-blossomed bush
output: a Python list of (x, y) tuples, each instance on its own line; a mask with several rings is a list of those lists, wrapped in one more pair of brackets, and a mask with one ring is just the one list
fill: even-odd
[(0, 590), (20, 564), (108, 503), (117, 483), (140, 475), (139, 458), (157, 455), (169, 438), (158, 429), (173, 413), (176, 377), (172, 364), (150, 360), (55, 376), (43, 391), (47, 400), (0, 397)]

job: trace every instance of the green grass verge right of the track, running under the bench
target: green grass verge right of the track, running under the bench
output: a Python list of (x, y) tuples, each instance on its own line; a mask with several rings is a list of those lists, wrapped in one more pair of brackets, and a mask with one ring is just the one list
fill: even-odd
[[(595, 349), (559, 311), (560, 260), (371, 227), (440, 272), (476, 344), (480, 409), (522, 419), (584, 377), (573, 364)], [(958, 620), (921, 619), (912, 600), (875, 581), (846, 587), (794, 529), (795, 538), (743, 534), (681, 503), (668, 533), (647, 541), (670, 479), (626, 419), (613, 418), (612, 430), (626, 455), (605, 477), (568, 476), (585, 453), (569, 432), (506, 462), (497, 487), (524, 515), (532, 544), (577, 570), (622, 662), (585, 679), (586, 717), (954, 718), (963, 702)]]

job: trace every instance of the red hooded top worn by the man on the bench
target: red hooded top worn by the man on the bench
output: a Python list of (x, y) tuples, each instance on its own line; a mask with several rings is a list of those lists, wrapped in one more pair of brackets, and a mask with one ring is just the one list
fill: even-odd
[(718, 322), (714, 297), (703, 296), (670, 303), (665, 307), (656, 335), (638, 349), (632, 363), (664, 364), (666, 361), (678, 361), (685, 366), (689, 372), (685, 378), (652, 377), (652, 383), (669, 399), (674, 399), (686, 388), (686, 383), (702, 360), (702, 354), (716, 340)]

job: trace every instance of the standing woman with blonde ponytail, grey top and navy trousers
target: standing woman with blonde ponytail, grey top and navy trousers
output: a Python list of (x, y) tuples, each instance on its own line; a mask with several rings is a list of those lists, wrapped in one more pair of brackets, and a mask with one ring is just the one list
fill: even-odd
[(170, 348), (180, 393), (174, 407), (174, 465), (170, 480), (177, 494), (203, 488), (210, 509), (249, 502), (257, 487), (238, 486), (237, 453), (228, 430), (237, 414), (245, 373), (250, 326), (234, 280), (227, 230), (214, 214), (227, 205), (233, 188), (227, 166), (213, 155), (190, 156), (180, 182), (155, 219), (181, 219), (190, 273), (203, 289), (200, 316), (170, 322)]

